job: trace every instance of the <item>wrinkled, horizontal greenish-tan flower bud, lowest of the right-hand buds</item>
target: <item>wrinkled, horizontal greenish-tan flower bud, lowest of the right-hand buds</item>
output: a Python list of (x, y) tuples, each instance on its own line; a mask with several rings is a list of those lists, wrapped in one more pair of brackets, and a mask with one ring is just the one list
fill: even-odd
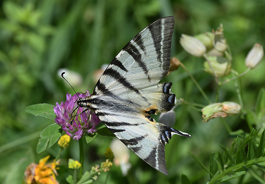
[(214, 103), (201, 110), (204, 122), (216, 117), (238, 115), (240, 111), (241, 106), (235, 102)]

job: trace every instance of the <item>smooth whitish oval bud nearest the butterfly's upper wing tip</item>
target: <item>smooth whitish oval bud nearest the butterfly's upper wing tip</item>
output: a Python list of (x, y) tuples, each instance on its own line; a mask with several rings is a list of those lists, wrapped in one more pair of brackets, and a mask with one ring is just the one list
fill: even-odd
[(180, 45), (193, 56), (201, 57), (206, 52), (206, 47), (200, 40), (186, 34), (181, 34)]

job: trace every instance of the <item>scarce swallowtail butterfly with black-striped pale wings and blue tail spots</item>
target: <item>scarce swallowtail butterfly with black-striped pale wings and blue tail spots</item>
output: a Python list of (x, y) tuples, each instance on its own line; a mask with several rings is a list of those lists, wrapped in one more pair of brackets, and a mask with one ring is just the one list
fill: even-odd
[(172, 83), (159, 84), (168, 74), (173, 29), (173, 16), (144, 28), (108, 65), (93, 94), (77, 101), (142, 160), (166, 175), (165, 143), (174, 134), (191, 137), (150, 117), (170, 111), (176, 103)]

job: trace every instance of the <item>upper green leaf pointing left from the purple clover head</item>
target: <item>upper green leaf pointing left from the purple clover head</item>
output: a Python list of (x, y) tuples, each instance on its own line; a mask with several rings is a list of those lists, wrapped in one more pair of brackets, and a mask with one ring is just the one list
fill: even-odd
[(55, 114), (53, 107), (54, 106), (50, 104), (35, 104), (26, 107), (25, 111), (35, 116), (43, 116), (48, 119), (54, 120)]

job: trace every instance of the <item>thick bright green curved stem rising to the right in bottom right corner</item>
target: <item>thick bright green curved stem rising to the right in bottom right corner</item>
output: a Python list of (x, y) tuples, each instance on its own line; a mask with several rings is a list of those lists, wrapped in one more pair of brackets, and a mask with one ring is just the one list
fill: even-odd
[(213, 184), (213, 183), (216, 183), (218, 180), (220, 180), (224, 175), (228, 174), (228, 173), (231, 173), (233, 171), (240, 171), (242, 170), (243, 166), (246, 166), (246, 167), (250, 167), (256, 163), (261, 163), (261, 162), (264, 162), (265, 161), (265, 158), (257, 158), (257, 159), (253, 159), (253, 160), (249, 160), (247, 161), (246, 163), (239, 163), (239, 164), (236, 164), (230, 168), (227, 168), (226, 170), (224, 170), (222, 173), (218, 174), (218, 175), (215, 175), (207, 184)]

